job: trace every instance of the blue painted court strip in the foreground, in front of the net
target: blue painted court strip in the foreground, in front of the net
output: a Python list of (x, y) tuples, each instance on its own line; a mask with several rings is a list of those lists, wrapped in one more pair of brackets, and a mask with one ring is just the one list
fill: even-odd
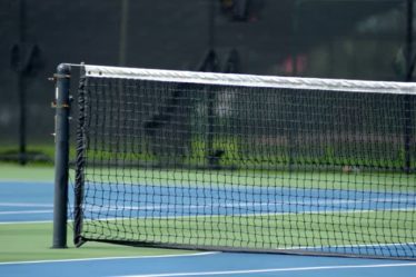
[(42, 277), (414, 277), (416, 263), (266, 254), (199, 254), (170, 257), (0, 264), (1, 276)]

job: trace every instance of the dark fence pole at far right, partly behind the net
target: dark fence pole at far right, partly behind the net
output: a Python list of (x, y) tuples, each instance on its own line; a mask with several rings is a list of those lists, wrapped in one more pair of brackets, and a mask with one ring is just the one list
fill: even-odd
[[(406, 81), (412, 81), (413, 75), (413, 18), (414, 2), (407, 0), (407, 24), (406, 24)], [(405, 96), (405, 171), (410, 172), (410, 141), (412, 141), (412, 105), (410, 96)]]

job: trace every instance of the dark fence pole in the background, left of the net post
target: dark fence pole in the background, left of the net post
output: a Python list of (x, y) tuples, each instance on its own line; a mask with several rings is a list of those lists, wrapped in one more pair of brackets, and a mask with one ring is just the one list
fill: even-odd
[(26, 16), (26, 0), (20, 0), (19, 7), (19, 50), (20, 50), (20, 70), (18, 70), (18, 93), (19, 93), (19, 164), (26, 165), (27, 149), (26, 149), (26, 78), (24, 69), (21, 65), (23, 56), (26, 55), (26, 31), (27, 31), (27, 16)]

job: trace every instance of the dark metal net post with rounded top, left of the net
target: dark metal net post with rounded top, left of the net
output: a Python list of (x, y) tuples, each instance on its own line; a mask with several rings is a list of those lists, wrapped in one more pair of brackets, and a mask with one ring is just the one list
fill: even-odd
[(53, 245), (67, 248), (70, 66), (59, 65), (56, 79)]

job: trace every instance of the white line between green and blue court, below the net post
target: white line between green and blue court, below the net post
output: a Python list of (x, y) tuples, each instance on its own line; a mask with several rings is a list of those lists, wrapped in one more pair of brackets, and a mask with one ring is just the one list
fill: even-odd
[(72, 261), (90, 261), (90, 260), (112, 260), (112, 259), (159, 259), (159, 258), (180, 258), (194, 256), (207, 256), (219, 254), (217, 251), (192, 253), (192, 254), (175, 254), (175, 255), (156, 255), (156, 256), (127, 256), (127, 257), (102, 257), (102, 258), (85, 258), (85, 259), (47, 259), (47, 260), (27, 260), (27, 261), (4, 261), (3, 265), (24, 265), (24, 264), (46, 264), (46, 263), (72, 263)]

